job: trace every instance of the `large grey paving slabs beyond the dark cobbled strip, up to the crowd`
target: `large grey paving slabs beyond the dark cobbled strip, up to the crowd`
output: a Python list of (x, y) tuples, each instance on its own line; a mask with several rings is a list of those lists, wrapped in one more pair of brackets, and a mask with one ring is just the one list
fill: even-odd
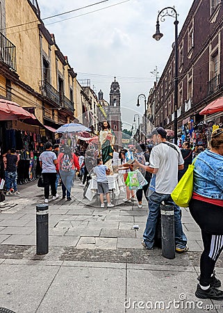
[[(20, 195), (7, 196), (1, 206), (0, 245), (35, 246), (35, 206), (43, 202), (43, 188), (37, 182), (20, 186)], [(60, 198), (49, 202), (49, 246), (77, 249), (141, 250), (142, 234), (147, 220), (147, 201), (142, 209), (137, 202), (123, 203), (115, 199), (112, 208), (101, 209), (99, 203), (83, 198), (83, 185), (76, 179), (72, 201)], [(188, 209), (182, 209), (183, 229), (190, 252), (201, 252), (199, 227)], [(135, 230), (134, 225), (139, 229)]]

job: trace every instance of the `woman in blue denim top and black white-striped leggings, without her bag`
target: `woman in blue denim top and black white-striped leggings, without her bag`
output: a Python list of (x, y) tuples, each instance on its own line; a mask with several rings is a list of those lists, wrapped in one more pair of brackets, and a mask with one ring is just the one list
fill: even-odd
[(210, 150), (195, 161), (194, 187), (189, 203), (190, 214), (201, 228), (204, 251), (200, 259), (199, 284), (195, 296), (223, 300), (215, 263), (223, 248), (223, 129), (213, 131)]

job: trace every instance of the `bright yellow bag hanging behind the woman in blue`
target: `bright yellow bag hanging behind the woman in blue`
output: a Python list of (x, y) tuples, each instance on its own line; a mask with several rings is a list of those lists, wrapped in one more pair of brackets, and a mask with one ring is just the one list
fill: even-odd
[(195, 160), (188, 166), (183, 177), (171, 193), (172, 200), (179, 207), (188, 207), (189, 205), (194, 186), (194, 168)]

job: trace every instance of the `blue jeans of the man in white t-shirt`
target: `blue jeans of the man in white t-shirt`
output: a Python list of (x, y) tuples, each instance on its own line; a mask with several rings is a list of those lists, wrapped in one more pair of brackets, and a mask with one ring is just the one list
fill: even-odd
[(175, 245), (179, 248), (185, 248), (187, 244), (187, 237), (183, 232), (181, 224), (181, 208), (174, 203), (170, 195), (163, 193), (156, 193), (156, 191), (149, 190), (149, 216), (147, 217), (147, 224), (144, 230), (143, 239), (148, 248), (154, 246), (154, 236), (156, 232), (156, 221), (160, 211), (160, 204), (164, 201), (165, 204), (174, 206), (174, 228), (175, 228)]

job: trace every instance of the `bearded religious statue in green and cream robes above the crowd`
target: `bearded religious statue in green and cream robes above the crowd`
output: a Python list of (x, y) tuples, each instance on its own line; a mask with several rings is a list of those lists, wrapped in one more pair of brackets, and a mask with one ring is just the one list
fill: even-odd
[(105, 120), (102, 123), (102, 129), (99, 133), (99, 143), (101, 150), (101, 157), (103, 164), (106, 165), (110, 173), (113, 173), (112, 159), (113, 159), (113, 145), (115, 145), (115, 136), (110, 129), (110, 124)]

